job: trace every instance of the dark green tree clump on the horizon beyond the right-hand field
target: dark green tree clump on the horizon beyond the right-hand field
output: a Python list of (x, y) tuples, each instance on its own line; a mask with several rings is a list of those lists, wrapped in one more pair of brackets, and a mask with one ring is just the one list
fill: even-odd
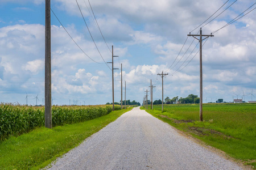
[[(181, 103), (181, 104), (199, 104), (200, 103), (200, 98), (197, 95), (188, 95), (188, 97), (173, 97), (172, 99), (170, 99), (170, 97), (166, 97), (166, 99), (164, 99), (164, 104), (176, 104), (176, 103)], [(153, 102), (154, 105), (156, 104), (162, 104), (162, 100), (155, 100)]]

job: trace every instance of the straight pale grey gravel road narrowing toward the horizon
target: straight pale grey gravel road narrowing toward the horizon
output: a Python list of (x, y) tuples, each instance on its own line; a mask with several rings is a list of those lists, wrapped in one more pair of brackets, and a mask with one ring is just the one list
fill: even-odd
[(242, 169), (139, 108), (126, 112), (49, 169)]

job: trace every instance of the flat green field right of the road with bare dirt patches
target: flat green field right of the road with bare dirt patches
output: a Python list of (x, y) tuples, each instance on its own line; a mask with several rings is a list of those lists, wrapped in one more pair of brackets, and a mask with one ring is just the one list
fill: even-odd
[(244, 164), (256, 167), (256, 104), (172, 104), (147, 110), (153, 116), (186, 131)]

